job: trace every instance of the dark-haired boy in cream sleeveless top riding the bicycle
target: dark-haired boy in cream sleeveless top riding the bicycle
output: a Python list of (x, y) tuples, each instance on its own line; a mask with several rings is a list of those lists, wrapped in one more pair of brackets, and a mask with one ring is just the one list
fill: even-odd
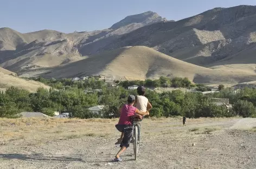
[[(135, 98), (136, 108), (141, 112), (146, 112), (146, 111), (149, 112), (150, 109), (152, 108), (152, 105), (149, 102), (149, 99), (144, 96), (146, 93), (146, 88), (144, 86), (139, 86), (137, 88), (137, 93), (138, 95)], [(121, 143), (121, 140), (123, 139), (123, 137), (124, 137), (124, 133), (121, 133), (121, 137), (117, 139), (116, 145)]]

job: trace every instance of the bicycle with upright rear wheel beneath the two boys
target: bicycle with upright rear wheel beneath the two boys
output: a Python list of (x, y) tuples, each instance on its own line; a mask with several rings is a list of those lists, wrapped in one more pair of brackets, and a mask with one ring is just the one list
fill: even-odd
[(138, 149), (139, 149), (139, 140), (140, 140), (140, 123), (141, 120), (132, 121), (132, 143), (135, 160), (137, 160)]

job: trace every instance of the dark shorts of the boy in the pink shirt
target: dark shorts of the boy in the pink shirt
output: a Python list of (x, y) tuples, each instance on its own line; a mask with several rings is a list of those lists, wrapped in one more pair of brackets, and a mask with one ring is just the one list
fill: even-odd
[(132, 138), (132, 125), (116, 125), (116, 128), (119, 132), (124, 133), (124, 138), (120, 144), (120, 147), (128, 148)]

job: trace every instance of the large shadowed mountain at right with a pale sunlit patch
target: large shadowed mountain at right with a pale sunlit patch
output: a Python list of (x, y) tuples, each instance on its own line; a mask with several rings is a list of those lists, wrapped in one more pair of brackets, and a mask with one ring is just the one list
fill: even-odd
[(256, 6), (215, 8), (180, 21), (139, 28), (99, 50), (147, 46), (176, 59), (207, 66), (255, 43), (255, 19)]

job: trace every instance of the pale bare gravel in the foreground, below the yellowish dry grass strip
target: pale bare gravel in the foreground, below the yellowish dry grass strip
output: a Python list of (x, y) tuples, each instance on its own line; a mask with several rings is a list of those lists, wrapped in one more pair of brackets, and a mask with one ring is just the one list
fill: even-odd
[[(170, 124), (176, 125), (162, 125)], [(106, 128), (112, 125), (104, 124)], [(113, 134), (106, 137), (10, 140), (0, 142), (0, 168), (255, 168), (256, 133), (237, 130), (244, 125), (254, 127), (256, 120), (202, 121), (169, 128), (146, 121), (138, 160), (133, 160), (130, 147), (121, 163), (112, 162), (119, 150), (114, 142), (120, 134), (114, 128), (110, 129)], [(207, 132), (213, 126), (220, 130)], [(199, 129), (189, 131), (195, 127)]]

